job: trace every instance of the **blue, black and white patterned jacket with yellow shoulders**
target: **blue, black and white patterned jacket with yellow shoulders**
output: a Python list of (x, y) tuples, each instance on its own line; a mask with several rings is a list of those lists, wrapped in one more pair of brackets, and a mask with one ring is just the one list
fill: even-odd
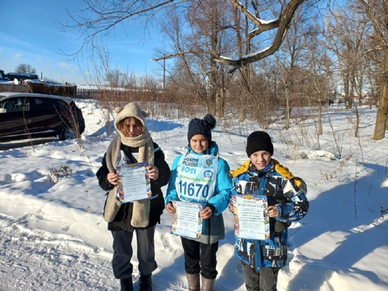
[[(235, 255), (257, 271), (263, 267), (282, 268), (287, 261), (288, 226), (307, 214), (309, 203), (305, 182), (274, 159), (261, 171), (247, 161), (231, 174), (234, 177), (232, 195), (266, 195), (268, 206), (276, 205), (280, 213), (278, 218), (270, 218), (269, 240), (235, 236)], [(284, 189), (288, 190), (285, 192)]]

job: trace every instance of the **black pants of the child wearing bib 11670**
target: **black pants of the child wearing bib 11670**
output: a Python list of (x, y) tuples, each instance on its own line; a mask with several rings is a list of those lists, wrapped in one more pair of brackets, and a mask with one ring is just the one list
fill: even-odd
[(205, 244), (181, 238), (183, 251), (185, 254), (185, 271), (187, 274), (198, 274), (206, 279), (215, 279), (217, 277), (216, 253), (218, 242)]

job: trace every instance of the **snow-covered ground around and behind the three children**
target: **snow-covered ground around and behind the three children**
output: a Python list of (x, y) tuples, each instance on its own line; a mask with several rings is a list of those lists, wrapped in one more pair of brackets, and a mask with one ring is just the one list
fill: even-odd
[[(94, 101), (77, 100), (77, 105), (86, 121), (83, 148), (72, 140), (0, 151), (1, 291), (119, 290), (111, 270), (112, 236), (102, 217), (105, 193), (95, 177), (113, 136), (107, 135), (103, 111)], [(279, 273), (279, 291), (388, 290), (388, 138), (372, 140), (375, 109), (360, 107), (359, 112), (359, 139), (352, 111), (339, 107), (324, 114), (320, 146), (311, 119), (291, 123), (288, 131), (280, 123), (268, 130), (274, 158), (305, 179), (310, 201), (307, 216), (291, 226), (289, 264)], [(187, 144), (188, 122), (147, 119), (170, 165)], [(247, 135), (260, 127), (232, 119), (227, 124), (219, 120), (212, 135), (234, 169), (247, 160)], [(50, 181), (48, 175), (62, 166), (72, 175)], [(228, 210), (224, 219), (226, 239), (217, 253), (214, 290), (243, 291)], [(171, 223), (165, 211), (156, 228), (155, 291), (187, 290), (183, 251), (179, 238), (170, 234)]]

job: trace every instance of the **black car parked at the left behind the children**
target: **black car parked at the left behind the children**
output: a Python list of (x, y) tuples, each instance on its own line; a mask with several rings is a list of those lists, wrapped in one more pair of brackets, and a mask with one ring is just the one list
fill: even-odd
[(58, 136), (79, 137), (85, 130), (82, 111), (69, 97), (0, 92), (0, 140)]

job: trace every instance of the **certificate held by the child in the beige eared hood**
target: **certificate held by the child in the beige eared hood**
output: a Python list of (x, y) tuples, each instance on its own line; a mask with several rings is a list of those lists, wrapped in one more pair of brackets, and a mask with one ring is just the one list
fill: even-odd
[(148, 177), (148, 162), (133, 163), (116, 167), (117, 197), (120, 203), (127, 203), (151, 197), (151, 184)]

